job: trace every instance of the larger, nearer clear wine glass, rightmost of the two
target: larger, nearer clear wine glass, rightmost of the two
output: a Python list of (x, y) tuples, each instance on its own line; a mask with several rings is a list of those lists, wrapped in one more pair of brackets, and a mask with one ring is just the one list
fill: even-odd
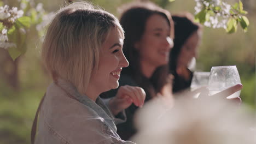
[[(216, 94), (238, 83), (241, 80), (235, 65), (212, 67), (208, 82), (209, 93)], [(237, 91), (227, 98), (239, 97), (240, 93), (241, 91)]]

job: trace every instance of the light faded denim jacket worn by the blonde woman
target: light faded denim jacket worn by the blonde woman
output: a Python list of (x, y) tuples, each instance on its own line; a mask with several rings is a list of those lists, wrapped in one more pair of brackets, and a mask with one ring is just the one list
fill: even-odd
[[(68, 97), (63, 89), (75, 99)], [(57, 85), (51, 83), (47, 89), (35, 143), (134, 144), (120, 139), (115, 120), (100, 97), (92, 101), (79, 94), (71, 83), (58, 80)]]

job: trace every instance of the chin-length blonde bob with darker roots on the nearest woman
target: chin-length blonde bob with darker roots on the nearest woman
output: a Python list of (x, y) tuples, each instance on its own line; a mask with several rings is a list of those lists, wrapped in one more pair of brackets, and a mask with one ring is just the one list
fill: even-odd
[(123, 34), (116, 17), (86, 2), (60, 9), (45, 34), (42, 58), (53, 80), (71, 82), (84, 94), (92, 70), (97, 70), (99, 53), (111, 28)]

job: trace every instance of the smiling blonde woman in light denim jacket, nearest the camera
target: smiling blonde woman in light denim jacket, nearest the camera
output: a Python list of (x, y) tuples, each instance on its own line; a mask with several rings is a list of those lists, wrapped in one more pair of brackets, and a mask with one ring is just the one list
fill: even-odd
[(120, 72), (129, 65), (123, 40), (119, 21), (91, 4), (77, 2), (57, 12), (42, 49), (53, 83), (39, 105), (32, 143), (133, 143), (120, 139), (114, 122), (132, 103), (143, 105), (143, 89), (124, 86), (111, 100), (98, 97), (119, 86)]

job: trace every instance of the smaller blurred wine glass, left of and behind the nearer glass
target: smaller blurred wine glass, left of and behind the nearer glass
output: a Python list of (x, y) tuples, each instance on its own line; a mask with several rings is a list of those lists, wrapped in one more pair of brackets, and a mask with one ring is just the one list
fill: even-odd
[[(190, 91), (194, 91), (197, 88), (208, 86), (210, 72), (206, 71), (195, 71), (190, 85)], [(200, 92), (194, 95), (194, 98), (198, 98)]]

